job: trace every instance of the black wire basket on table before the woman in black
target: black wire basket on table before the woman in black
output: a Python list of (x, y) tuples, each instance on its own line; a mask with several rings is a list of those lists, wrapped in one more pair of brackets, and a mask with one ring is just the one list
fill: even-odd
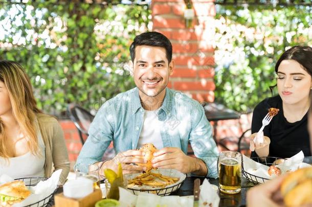
[[(276, 160), (284, 159), (284, 158), (280, 158), (280, 157), (251, 157), (251, 159), (255, 160), (256, 162), (258, 162), (262, 165), (271, 166), (271, 165), (277, 165), (277, 164), (274, 164), (274, 162), (276, 162)], [(241, 165), (241, 173), (248, 181), (252, 182), (254, 185), (261, 184), (261, 183), (264, 183), (264, 182), (270, 180), (268, 178), (253, 175), (253, 174), (245, 171), (243, 163)]]

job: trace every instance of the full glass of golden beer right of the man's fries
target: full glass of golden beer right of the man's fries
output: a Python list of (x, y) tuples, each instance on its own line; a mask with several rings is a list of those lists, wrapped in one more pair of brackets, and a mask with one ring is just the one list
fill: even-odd
[(220, 152), (218, 173), (221, 192), (239, 193), (241, 189), (241, 154), (233, 151)]

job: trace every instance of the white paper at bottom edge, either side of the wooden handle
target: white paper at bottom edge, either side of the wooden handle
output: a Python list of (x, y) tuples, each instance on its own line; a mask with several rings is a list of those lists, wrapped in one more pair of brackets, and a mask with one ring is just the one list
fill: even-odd
[[(220, 198), (207, 179), (200, 186), (199, 206), (219, 205)], [(119, 188), (119, 202), (121, 207), (193, 207), (194, 196), (159, 196), (151, 193), (140, 192), (133, 195), (126, 189)], [(209, 205), (209, 204), (212, 205)]]

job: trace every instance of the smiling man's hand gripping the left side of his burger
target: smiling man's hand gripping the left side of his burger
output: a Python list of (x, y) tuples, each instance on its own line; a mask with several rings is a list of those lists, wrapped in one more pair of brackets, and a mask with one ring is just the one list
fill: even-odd
[(119, 152), (113, 159), (106, 161), (100, 170), (100, 174), (102, 174), (104, 169), (107, 168), (112, 169), (117, 173), (119, 163), (121, 163), (123, 174), (140, 173), (143, 170), (146, 170), (145, 167), (133, 165), (145, 163), (143, 154), (139, 150), (128, 150), (125, 152)]

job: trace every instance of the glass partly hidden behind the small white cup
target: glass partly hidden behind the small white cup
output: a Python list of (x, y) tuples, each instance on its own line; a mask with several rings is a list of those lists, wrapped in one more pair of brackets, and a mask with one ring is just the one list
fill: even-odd
[(86, 166), (76, 166), (74, 168), (76, 173), (76, 179), (79, 177), (85, 177), (93, 180), (93, 189), (100, 189), (100, 175), (99, 166), (89, 165)]

